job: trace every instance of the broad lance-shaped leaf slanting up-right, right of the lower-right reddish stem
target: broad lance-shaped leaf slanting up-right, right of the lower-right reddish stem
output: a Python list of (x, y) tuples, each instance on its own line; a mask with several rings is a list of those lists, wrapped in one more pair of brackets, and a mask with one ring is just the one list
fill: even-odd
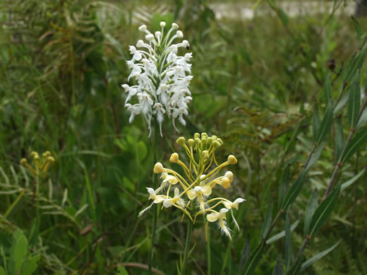
[(320, 227), (325, 223), (327, 218), (332, 213), (332, 209), (334, 209), (335, 204), (337, 203), (337, 199), (340, 193), (340, 184), (335, 187), (335, 190), (326, 197), (326, 199), (321, 202), (321, 204), (316, 209), (315, 213), (312, 216), (311, 225), (307, 232), (307, 236), (311, 237), (314, 233), (316, 233)]

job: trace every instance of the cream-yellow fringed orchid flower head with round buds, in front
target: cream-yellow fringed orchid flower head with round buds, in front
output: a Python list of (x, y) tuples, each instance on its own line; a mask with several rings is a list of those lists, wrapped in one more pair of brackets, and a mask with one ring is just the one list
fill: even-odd
[(152, 203), (143, 209), (139, 216), (153, 204), (162, 204), (162, 208), (176, 207), (194, 224), (199, 215), (205, 215), (207, 224), (217, 222), (220, 231), (231, 239), (231, 229), (227, 226), (227, 212), (231, 213), (234, 224), (239, 230), (233, 211), (239, 209), (239, 204), (245, 200), (239, 197), (232, 202), (224, 197), (210, 196), (216, 186), (222, 186), (224, 189), (231, 187), (233, 173), (231, 171), (222, 173), (221, 170), (230, 164), (236, 164), (236, 157), (229, 155), (227, 161), (218, 164), (215, 159), (215, 149), (222, 146), (223, 142), (215, 135), (209, 137), (207, 133), (201, 135), (195, 133), (194, 138), (187, 142), (181, 137), (176, 140), (176, 143), (185, 150), (189, 163), (183, 163), (178, 153), (173, 153), (169, 161), (181, 166), (184, 176), (157, 162), (153, 171), (161, 174), (162, 183), (156, 190), (147, 188)]

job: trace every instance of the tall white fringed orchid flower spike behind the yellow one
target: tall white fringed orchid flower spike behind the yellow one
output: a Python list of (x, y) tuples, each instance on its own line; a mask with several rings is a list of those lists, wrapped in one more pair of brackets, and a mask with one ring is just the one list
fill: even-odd
[[(127, 61), (128, 67), (131, 68), (128, 80), (135, 79), (137, 85), (121, 85), (128, 93), (125, 106), (131, 112), (129, 122), (131, 123), (136, 115), (143, 114), (148, 123), (149, 135), (152, 131), (153, 117), (157, 119), (162, 135), (164, 114), (172, 118), (175, 129), (176, 118), (185, 126), (183, 115), (188, 114), (188, 103), (192, 99), (188, 90), (193, 78), (190, 75), (191, 63), (188, 63), (192, 54), (178, 54), (179, 48), (188, 49), (189, 44), (187, 40), (172, 44), (176, 38), (182, 38), (183, 33), (177, 30), (179, 25), (172, 23), (171, 29), (164, 35), (165, 26), (166, 23), (161, 22), (161, 31), (155, 32), (154, 35), (147, 30), (147, 26), (139, 27), (141, 32), (145, 32), (148, 43), (138, 40), (136, 47), (130, 46), (133, 58)], [(138, 99), (135, 104), (129, 103), (133, 97)]]

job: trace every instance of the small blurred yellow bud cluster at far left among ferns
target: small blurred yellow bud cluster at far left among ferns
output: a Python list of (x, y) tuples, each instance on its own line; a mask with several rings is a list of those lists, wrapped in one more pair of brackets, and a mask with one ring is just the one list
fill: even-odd
[(20, 159), (20, 164), (25, 166), (33, 176), (44, 178), (47, 175), (50, 165), (55, 162), (51, 152), (46, 151), (41, 157), (37, 152), (31, 152), (30, 156), (32, 157), (31, 164), (28, 164), (27, 159), (24, 158)]

